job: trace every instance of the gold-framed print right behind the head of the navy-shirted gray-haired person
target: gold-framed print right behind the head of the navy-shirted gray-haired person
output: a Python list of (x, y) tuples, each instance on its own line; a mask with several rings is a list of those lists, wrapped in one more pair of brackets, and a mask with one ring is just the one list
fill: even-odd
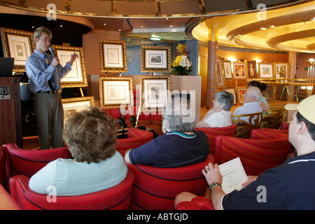
[(142, 111), (164, 109), (171, 93), (170, 76), (140, 76)]

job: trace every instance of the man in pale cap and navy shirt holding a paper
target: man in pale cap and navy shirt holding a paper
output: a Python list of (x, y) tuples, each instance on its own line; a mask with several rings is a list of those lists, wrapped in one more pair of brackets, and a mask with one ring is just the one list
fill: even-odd
[[(297, 156), (283, 165), (267, 169), (260, 176), (248, 176), (245, 188), (225, 194), (221, 188), (222, 175), (218, 165), (209, 163), (202, 170), (211, 188), (215, 209), (315, 209), (315, 95), (300, 104), (288, 104), (287, 110), (297, 110), (289, 126), (289, 141)], [(181, 193), (179, 202), (195, 195)]]

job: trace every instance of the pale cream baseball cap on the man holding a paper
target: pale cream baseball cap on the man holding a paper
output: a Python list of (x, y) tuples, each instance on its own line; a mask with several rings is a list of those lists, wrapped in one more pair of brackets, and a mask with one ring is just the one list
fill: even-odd
[(288, 111), (297, 110), (310, 123), (315, 125), (315, 94), (303, 99), (300, 104), (286, 104)]

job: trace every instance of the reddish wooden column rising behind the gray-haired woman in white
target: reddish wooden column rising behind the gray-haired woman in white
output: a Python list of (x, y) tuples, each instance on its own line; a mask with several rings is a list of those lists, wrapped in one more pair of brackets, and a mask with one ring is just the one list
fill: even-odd
[(209, 28), (208, 71), (207, 71), (207, 108), (213, 106), (214, 94), (218, 87), (218, 29)]

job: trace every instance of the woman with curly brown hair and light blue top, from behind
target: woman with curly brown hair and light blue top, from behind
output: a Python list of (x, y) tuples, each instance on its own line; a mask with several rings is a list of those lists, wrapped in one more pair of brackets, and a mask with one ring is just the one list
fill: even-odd
[(91, 108), (73, 112), (66, 121), (64, 141), (73, 159), (59, 158), (29, 180), (29, 188), (48, 194), (83, 195), (111, 188), (127, 176), (127, 165), (116, 151), (116, 121), (106, 112)]

